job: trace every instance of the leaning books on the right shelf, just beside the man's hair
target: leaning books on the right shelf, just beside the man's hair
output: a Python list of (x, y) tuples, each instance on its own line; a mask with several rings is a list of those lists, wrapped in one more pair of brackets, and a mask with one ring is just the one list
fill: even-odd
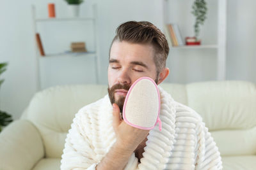
[(177, 24), (164, 25), (164, 32), (166, 34), (168, 43), (170, 42), (170, 46), (184, 45), (184, 41), (182, 41), (179, 26)]

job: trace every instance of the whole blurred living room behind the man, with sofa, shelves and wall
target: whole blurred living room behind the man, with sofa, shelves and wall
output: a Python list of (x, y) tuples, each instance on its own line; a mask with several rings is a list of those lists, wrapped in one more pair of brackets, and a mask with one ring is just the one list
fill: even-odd
[(1, 1), (0, 169), (60, 167), (75, 113), (107, 94), (109, 46), (116, 27), (129, 20), (164, 32), (170, 46), (164, 87), (202, 116), (225, 169), (255, 169), (255, 6), (255, 0)]

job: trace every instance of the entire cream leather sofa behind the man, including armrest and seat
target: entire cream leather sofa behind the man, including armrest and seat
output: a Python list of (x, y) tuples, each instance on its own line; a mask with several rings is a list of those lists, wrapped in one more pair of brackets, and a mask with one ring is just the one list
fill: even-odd
[[(256, 86), (246, 81), (161, 85), (202, 115), (224, 169), (256, 169)], [(51, 87), (35, 94), (20, 120), (0, 134), (0, 169), (56, 170), (76, 112), (107, 94), (106, 85)], [(13, 104), (15, 107), (15, 104)]]

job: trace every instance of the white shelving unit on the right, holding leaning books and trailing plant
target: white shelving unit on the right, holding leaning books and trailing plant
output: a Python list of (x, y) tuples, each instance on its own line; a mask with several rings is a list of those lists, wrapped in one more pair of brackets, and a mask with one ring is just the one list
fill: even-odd
[[(178, 1), (178, 0), (177, 0)], [(163, 25), (168, 24), (168, 0), (162, 1), (163, 5)], [(211, 8), (211, 6), (209, 6)], [(218, 0), (218, 21), (217, 21), (217, 44), (212, 45), (198, 45), (198, 46), (170, 46), (170, 50), (188, 50), (198, 49), (217, 50), (217, 80), (226, 80), (226, 51), (227, 51), (227, 0)]]

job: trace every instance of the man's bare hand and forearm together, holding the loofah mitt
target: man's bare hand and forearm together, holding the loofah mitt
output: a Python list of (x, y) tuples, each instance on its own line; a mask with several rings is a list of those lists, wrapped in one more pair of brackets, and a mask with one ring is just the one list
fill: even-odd
[(113, 129), (116, 134), (116, 143), (97, 165), (97, 170), (124, 169), (134, 150), (147, 137), (149, 132), (126, 124), (124, 120), (120, 119), (119, 114), (119, 107), (117, 104), (113, 104)]

